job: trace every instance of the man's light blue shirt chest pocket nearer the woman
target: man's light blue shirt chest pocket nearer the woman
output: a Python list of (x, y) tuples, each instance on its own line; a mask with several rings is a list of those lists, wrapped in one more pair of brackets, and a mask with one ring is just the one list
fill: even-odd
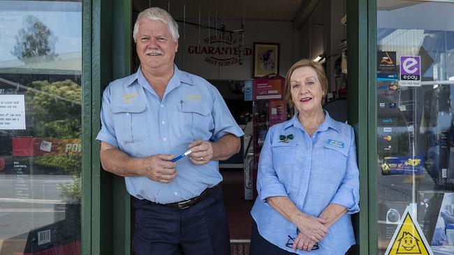
[(178, 115), (182, 139), (206, 141), (212, 137), (214, 121), (209, 105), (202, 102), (182, 102), (178, 107)]

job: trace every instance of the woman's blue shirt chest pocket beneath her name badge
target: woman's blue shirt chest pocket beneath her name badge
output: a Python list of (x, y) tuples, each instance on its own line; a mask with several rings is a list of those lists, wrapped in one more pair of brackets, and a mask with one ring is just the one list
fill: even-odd
[(348, 148), (324, 144), (325, 151), (323, 156), (325, 158), (325, 166), (332, 174), (331, 178), (344, 176), (346, 171), (347, 156), (349, 155)]

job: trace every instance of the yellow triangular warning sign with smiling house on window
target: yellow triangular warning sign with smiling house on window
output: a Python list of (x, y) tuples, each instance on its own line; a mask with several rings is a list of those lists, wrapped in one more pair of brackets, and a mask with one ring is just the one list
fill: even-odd
[(409, 207), (404, 212), (385, 255), (421, 254), (433, 255), (418, 222), (413, 219)]

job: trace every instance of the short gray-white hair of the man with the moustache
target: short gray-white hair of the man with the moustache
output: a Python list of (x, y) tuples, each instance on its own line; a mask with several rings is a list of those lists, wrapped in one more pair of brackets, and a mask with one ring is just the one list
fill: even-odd
[(140, 19), (142, 18), (147, 18), (149, 20), (160, 20), (164, 24), (168, 26), (168, 29), (170, 31), (170, 34), (172, 35), (173, 40), (177, 42), (178, 38), (180, 38), (180, 34), (178, 33), (178, 24), (173, 20), (173, 17), (170, 16), (166, 10), (163, 10), (159, 7), (152, 7), (148, 8), (146, 10), (143, 10), (141, 13), (139, 13), (136, 24), (134, 24), (134, 31), (133, 31), (133, 38), (134, 42), (137, 40), (137, 33), (139, 31), (139, 22)]

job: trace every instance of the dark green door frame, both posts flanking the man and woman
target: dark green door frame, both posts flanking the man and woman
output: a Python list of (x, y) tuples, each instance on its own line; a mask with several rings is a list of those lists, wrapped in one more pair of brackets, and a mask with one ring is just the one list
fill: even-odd
[[(131, 0), (82, 0), (82, 254), (131, 253), (131, 200), (124, 178), (102, 171), (96, 134), (101, 96), (131, 74)], [(348, 0), (349, 123), (356, 132), (360, 210), (354, 254), (376, 254), (376, 0)], [(370, 88), (370, 89), (369, 89)], [(369, 156), (370, 155), (370, 156)]]

